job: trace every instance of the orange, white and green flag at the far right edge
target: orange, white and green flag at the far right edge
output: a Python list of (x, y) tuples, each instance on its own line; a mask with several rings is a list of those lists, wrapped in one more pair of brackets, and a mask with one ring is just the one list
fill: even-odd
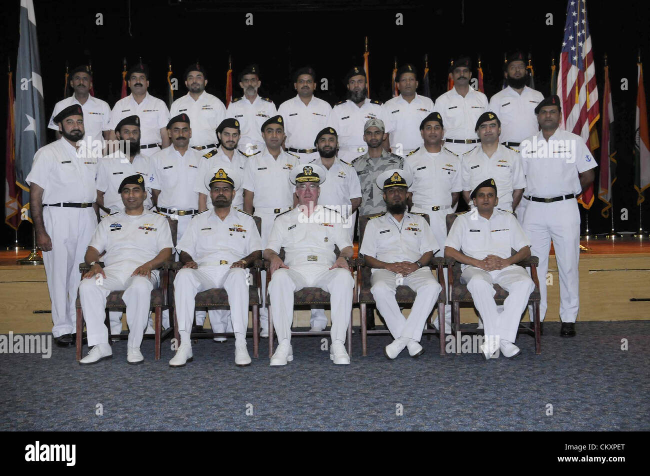
[(636, 204), (645, 201), (645, 190), (650, 187), (650, 135), (643, 88), (643, 66), (638, 62), (638, 92), (636, 94), (636, 120), (634, 122), (634, 189), (638, 193)]

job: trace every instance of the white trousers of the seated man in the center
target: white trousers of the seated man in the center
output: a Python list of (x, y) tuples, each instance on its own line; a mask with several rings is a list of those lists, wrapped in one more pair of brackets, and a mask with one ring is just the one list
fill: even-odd
[(354, 279), (346, 269), (328, 268), (322, 265), (304, 265), (290, 269), (280, 268), (273, 273), (268, 284), (268, 297), (271, 300), (273, 327), (278, 334), (278, 343), (291, 341), (293, 293), (304, 287), (320, 287), (330, 293), (331, 341), (345, 342), (352, 312)]

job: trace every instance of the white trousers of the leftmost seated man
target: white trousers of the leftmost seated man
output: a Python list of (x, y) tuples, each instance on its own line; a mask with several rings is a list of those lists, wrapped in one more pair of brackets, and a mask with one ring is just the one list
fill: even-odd
[[(111, 291), (124, 291), (126, 322), (129, 324), (129, 347), (140, 347), (151, 307), (151, 291), (159, 285), (159, 273), (151, 271), (151, 278), (131, 276), (136, 265), (132, 263), (104, 268), (106, 278), (87, 278), (79, 285), (81, 309), (88, 330), (88, 345), (109, 342), (109, 330), (104, 324), (106, 300)], [(100, 280), (101, 278), (101, 280)]]

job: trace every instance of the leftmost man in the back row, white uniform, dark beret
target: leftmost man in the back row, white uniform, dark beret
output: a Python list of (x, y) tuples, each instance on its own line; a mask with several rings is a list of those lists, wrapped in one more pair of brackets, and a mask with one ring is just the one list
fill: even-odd
[(92, 70), (88, 66), (77, 66), (70, 72), (70, 86), (74, 94), (69, 98), (59, 101), (52, 112), (47, 127), (57, 131), (57, 139), (61, 139), (59, 126), (54, 122), (55, 116), (59, 112), (73, 104), (81, 105), (84, 114), (84, 140), (102, 140), (109, 139), (110, 129), (110, 106), (106, 101), (90, 96), (92, 88)]

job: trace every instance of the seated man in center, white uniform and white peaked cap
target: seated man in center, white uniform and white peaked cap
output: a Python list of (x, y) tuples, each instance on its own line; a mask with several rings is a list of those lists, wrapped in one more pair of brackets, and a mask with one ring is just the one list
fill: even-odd
[[(348, 266), (353, 248), (341, 215), (318, 205), (319, 185), (326, 176), (326, 170), (317, 164), (292, 170), (299, 206), (276, 218), (264, 251), (264, 258), (270, 261), (268, 296), (279, 344), (270, 365), (287, 365), (293, 360), (293, 293), (303, 287), (321, 287), (330, 293), (330, 359), (337, 365), (350, 364), (345, 337), (354, 290)], [(334, 254), (335, 245), (341, 250), (339, 258)], [(278, 256), (281, 248), (285, 249), (285, 261)]]

